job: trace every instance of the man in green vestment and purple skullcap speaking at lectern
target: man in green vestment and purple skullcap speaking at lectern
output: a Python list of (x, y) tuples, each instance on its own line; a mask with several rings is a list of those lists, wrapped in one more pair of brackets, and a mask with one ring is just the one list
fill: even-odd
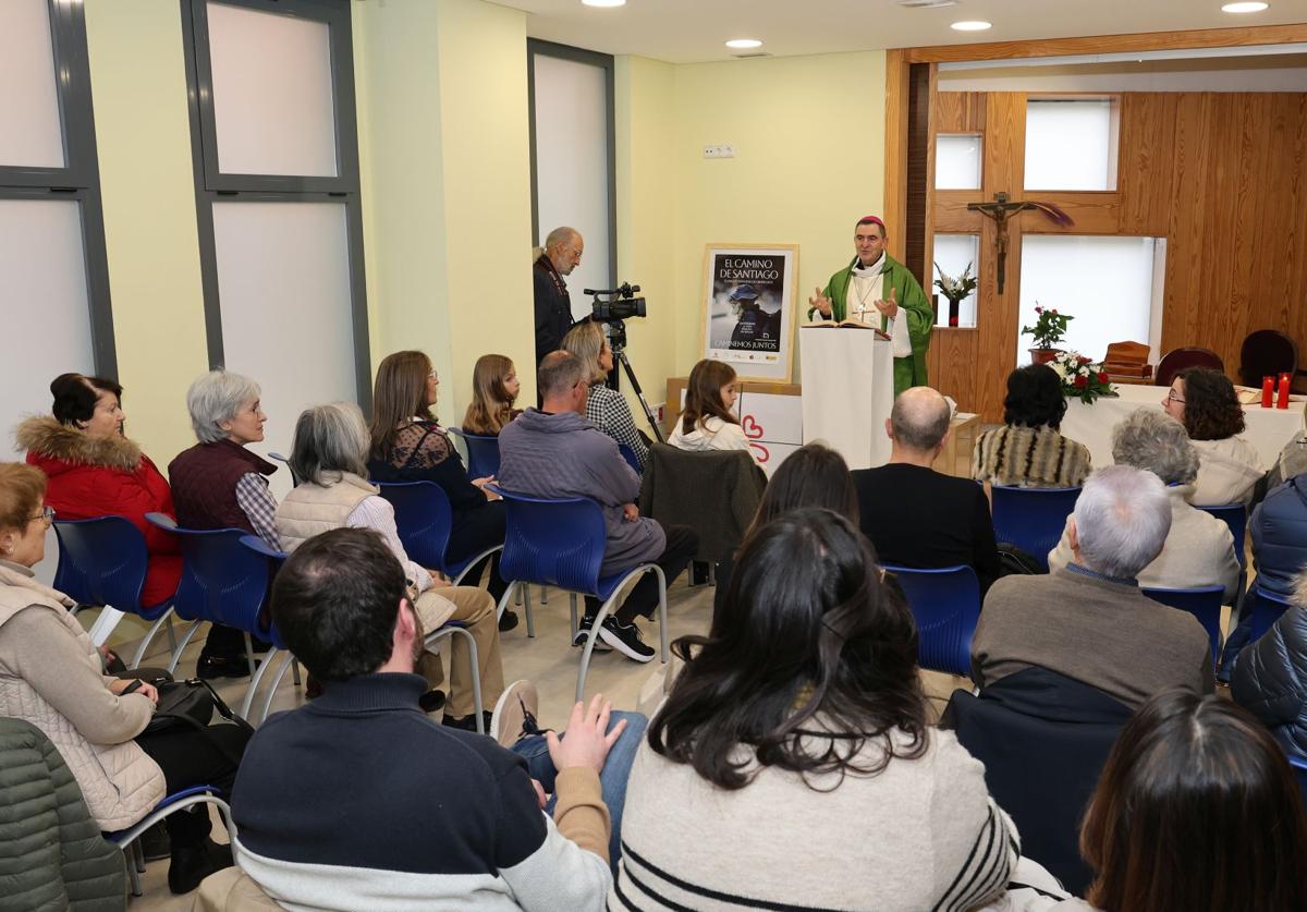
[(859, 319), (880, 327), (894, 346), (894, 395), (927, 387), (925, 351), (935, 311), (908, 268), (885, 252), (885, 222), (865, 216), (853, 229), (857, 256), (808, 299), (809, 320)]

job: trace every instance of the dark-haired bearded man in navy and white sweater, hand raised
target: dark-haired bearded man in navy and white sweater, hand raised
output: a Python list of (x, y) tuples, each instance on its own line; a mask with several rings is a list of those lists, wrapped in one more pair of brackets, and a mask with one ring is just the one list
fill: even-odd
[[(601, 780), (625, 720), (609, 729), (596, 696), (565, 737), (518, 742), (535, 724), (531, 689), (515, 685), (506, 696), (523, 699), (495, 728), (520, 753), (434, 724), (418, 708), (423, 623), (408, 592), (391, 549), (359, 529), (316, 536), (277, 574), (273, 619), (324, 690), (250, 742), (231, 801), (238, 864), (288, 908), (603, 909)], [(553, 821), (533, 775), (552, 780)]]

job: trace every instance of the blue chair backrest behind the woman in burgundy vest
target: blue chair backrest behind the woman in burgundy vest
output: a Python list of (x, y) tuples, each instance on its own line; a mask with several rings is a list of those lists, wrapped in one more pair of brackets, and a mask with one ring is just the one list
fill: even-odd
[(186, 621), (210, 621), (267, 638), (260, 617), (268, 601), (272, 567), (268, 558), (242, 544), (244, 529), (182, 529), (148, 513), (182, 549), (182, 581), (173, 609)]

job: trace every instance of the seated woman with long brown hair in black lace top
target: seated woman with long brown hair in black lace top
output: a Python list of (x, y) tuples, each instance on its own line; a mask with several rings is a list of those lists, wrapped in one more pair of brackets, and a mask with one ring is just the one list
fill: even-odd
[[(486, 490), (494, 478), (469, 478), (454, 442), (431, 414), (440, 380), (421, 351), (396, 351), (376, 368), (372, 389), (371, 449), (367, 470), (375, 481), (434, 481), (450, 498), (454, 525), (446, 559), (465, 561), (503, 545), (505, 519), (499, 497)], [(467, 579), (481, 580), (490, 566), (490, 597), (495, 605), (508, 584), (499, 575), (499, 551), (477, 562)], [(518, 626), (518, 615), (505, 610), (499, 630)]]

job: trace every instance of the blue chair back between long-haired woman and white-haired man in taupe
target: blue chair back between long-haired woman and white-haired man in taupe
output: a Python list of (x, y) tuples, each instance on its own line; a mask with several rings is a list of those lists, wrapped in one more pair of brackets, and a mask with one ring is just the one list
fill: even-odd
[(971, 677), (971, 638), (980, 619), (980, 581), (967, 566), (920, 570), (885, 564), (916, 619), (918, 664)]

